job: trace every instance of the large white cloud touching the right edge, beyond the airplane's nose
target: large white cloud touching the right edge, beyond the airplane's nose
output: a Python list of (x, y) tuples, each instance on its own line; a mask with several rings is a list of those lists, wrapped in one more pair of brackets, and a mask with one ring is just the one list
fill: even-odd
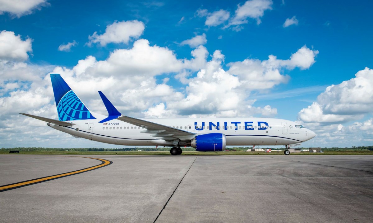
[(313, 125), (344, 123), (361, 119), (373, 110), (373, 70), (365, 68), (355, 78), (330, 85), (312, 105), (298, 113), (298, 119)]

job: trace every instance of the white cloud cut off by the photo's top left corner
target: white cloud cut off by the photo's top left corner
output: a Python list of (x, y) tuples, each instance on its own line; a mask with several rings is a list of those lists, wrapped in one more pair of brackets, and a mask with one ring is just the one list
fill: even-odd
[(0, 14), (9, 12), (12, 15), (21, 17), (31, 14), (32, 10), (40, 10), (42, 6), (47, 6), (48, 4), (47, 0), (0, 0)]

